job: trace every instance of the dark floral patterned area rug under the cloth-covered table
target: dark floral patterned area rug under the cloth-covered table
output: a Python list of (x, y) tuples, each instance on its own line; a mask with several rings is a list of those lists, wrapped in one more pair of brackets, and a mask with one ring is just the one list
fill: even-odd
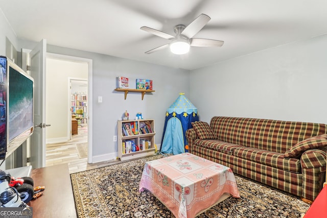
[[(138, 192), (150, 156), (71, 174), (79, 218), (175, 217), (150, 191)], [(309, 205), (298, 197), (236, 175), (240, 199), (229, 197), (201, 213), (208, 217), (301, 217)]]

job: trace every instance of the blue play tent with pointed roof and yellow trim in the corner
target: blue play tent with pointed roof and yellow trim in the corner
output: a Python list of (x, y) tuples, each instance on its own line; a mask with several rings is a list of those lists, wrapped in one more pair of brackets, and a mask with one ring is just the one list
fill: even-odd
[(184, 93), (179, 93), (176, 101), (168, 108), (160, 152), (181, 154), (189, 151), (185, 132), (192, 128), (192, 122), (199, 121), (198, 109)]

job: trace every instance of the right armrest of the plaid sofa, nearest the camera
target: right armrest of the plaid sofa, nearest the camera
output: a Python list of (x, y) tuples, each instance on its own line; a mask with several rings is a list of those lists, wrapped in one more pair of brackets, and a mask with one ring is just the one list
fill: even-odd
[(326, 175), (327, 147), (305, 151), (300, 158), (302, 167), (302, 197), (314, 201)]

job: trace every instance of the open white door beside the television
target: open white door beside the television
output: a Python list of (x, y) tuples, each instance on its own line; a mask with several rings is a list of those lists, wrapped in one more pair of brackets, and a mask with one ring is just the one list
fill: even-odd
[(45, 62), (46, 40), (30, 52), (30, 72), (34, 79), (34, 132), (31, 136), (31, 165), (45, 166)]

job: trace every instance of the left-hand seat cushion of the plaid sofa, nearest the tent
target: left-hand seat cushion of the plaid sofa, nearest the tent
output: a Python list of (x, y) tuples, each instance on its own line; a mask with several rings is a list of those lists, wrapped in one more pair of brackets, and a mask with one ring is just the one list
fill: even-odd
[(229, 155), (233, 154), (235, 148), (243, 147), (240, 146), (240, 144), (232, 144), (232, 143), (219, 141), (219, 140), (212, 140), (212, 139), (206, 139), (206, 140), (196, 139), (194, 143), (197, 146), (210, 149), (213, 151), (222, 152)]

